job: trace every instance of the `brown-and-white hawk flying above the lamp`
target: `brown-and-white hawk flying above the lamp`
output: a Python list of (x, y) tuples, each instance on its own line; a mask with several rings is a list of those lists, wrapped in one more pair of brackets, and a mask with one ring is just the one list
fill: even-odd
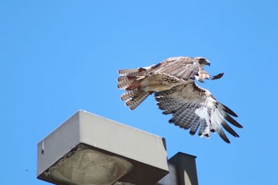
[(172, 114), (169, 123), (174, 123), (194, 135), (209, 138), (217, 132), (226, 142), (231, 143), (226, 130), (234, 137), (239, 135), (228, 124), (242, 128), (233, 117), (238, 117), (229, 107), (220, 103), (210, 91), (199, 87), (195, 80), (217, 80), (224, 73), (211, 76), (204, 70), (210, 66), (203, 57), (172, 57), (150, 67), (120, 69), (117, 88), (124, 89), (121, 99), (133, 110), (148, 96), (154, 94), (158, 108), (163, 114)]

